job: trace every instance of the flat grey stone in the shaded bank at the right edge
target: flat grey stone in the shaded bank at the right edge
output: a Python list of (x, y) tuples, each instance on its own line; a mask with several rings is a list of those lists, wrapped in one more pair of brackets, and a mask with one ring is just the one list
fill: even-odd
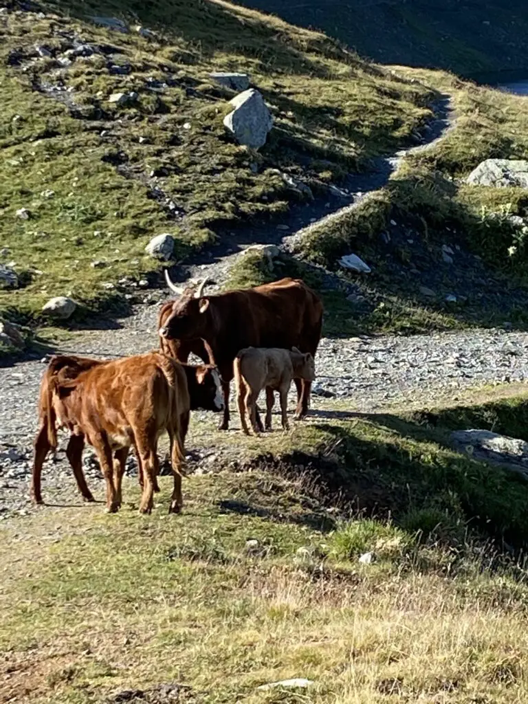
[(477, 460), (486, 460), (528, 480), (528, 443), (490, 430), (455, 430), (451, 433), (455, 450)]

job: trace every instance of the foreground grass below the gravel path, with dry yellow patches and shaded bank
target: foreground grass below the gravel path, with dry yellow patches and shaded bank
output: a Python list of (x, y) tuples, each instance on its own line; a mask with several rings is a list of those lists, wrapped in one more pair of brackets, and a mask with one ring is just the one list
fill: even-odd
[[(515, 409), (520, 427), (524, 405), (499, 396), (494, 413)], [(148, 517), (130, 479), (118, 515), (63, 505), (5, 521), (10, 700), (88, 704), (168, 681), (203, 703), (524, 700), (527, 584), (500, 546), (528, 540), (526, 486), (443, 441), (454, 417), (488, 411), (432, 410), (433, 427), (325, 409), (260, 438), (195, 420), (188, 446), (238, 470), (185, 479), (181, 517), (162, 478)], [(290, 677), (313, 687), (256, 690)]]

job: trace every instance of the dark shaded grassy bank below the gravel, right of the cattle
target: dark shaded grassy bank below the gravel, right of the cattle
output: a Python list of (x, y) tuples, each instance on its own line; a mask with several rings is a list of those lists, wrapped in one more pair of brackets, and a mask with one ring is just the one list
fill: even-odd
[[(365, 416), (353, 427), (314, 424), (325, 437), (318, 454), (262, 457), (257, 468), (303, 479), (314, 500), (406, 526), (434, 512), (466, 525), (496, 548), (528, 546), (528, 490), (501, 467), (448, 448), (441, 434), (394, 415)], [(507, 551), (510, 548), (507, 548)]]

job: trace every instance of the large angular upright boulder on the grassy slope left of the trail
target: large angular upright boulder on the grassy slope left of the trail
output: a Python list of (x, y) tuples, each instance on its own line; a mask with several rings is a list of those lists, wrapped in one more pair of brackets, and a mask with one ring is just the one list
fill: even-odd
[(237, 95), (230, 103), (234, 110), (224, 118), (225, 127), (234, 134), (239, 144), (260, 149), (273, 126), (273, 118), (263, 96), (251, 88)]

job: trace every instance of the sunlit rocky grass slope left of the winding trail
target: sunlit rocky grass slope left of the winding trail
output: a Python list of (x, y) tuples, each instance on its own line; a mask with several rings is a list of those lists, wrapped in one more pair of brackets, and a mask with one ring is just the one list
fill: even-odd
[[(431, 115), (430, 89), (322, 34), (229, 4), (42, 9), (0, 16), (0, 241), (22, 284), (0, 291), (0, 310), (25, 320), (50, 296), (111, 302), (127, 290), (122, 277), (130, 285), (157, 268), (144, 256), (153, 235), (170, 232), (181, 260), (219, 228), (298, 200), (277, 168), (325, 192)], [(98, 27), (92, 14), (125, 18), (130, 32)], [(155, 34), (142, 36), (138, 23)], [(92, 46), (87, 56), (72, 56), (79, 44)], [(213, 70), (249, 73), (270, 105), (275, 127), (259, 153), (226, 134), (234, 93), (210, 79)], [(132, 106), (108, 101), (132, 91)]]

